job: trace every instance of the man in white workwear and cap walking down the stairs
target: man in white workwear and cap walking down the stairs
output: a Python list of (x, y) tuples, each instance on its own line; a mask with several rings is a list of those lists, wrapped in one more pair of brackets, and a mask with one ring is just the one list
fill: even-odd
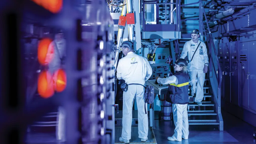
[(180, 58), (184, 59), (188, 56), (191, 96), (194, 96), (196, 93), (195, 102), (201, 106), (201, 101), (204, 98), (205, 73), (208, 71), (209, 59), (205, 43), (198, 39), (199, 30), (192, 30), (191, 37), (192, 39), (184, 44)]

